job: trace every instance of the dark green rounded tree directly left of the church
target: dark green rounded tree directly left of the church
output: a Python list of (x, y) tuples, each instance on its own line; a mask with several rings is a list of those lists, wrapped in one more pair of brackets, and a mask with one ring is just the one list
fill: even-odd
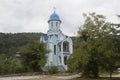
[(26, 71), (41, 71), (46, 63), (46, 48), (43, 42), (32, 42), (20, 49), (22, 64)]

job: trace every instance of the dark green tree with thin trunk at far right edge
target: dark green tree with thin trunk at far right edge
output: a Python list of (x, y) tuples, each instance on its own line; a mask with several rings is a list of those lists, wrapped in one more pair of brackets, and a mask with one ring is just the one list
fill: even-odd
[(101, 67), (108, 71), (112, 77), (114, 70), (120, 66), (120, 38), (118, 35), (110, 36), (102, 40), (101, 44), (98, 47), (98, 51), (104, 55), (101, 60)]

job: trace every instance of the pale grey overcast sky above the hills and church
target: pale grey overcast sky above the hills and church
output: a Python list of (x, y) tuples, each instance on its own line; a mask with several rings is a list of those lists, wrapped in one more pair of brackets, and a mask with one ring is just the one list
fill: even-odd
[(107, 20), (119, 23), (120, 0), (0, 0), (0, 32), (43, 32), (56, 7), (62, 20), (61, 30), (76, 35), (83, 24), (83, 13), (103, 14)]

